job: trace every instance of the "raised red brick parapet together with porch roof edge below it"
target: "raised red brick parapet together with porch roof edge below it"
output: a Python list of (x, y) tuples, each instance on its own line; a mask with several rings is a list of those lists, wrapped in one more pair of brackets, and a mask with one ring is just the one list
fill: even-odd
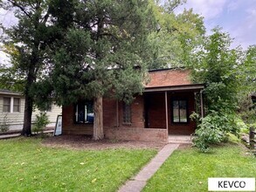
[(194, 84), (190, 79), (190, 70), (181, 68), (149, 71), (149, 84), (145, 92), (200, 90), (203, 84)]

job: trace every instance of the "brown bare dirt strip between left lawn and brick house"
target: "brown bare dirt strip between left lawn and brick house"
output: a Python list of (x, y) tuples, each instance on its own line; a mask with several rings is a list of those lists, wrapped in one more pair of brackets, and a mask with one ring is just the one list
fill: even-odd
[(107, 139), (93, 141), (91, 137), (85, 135), (61, 135), (49, 137), (43, 141), (43, 145), (46, 147), (66, 147), (88, 150), (103, 150), (109, 148), (152, 148), (160, 150), (164, 146), (163, 143), (148, 141), (119, 141)]

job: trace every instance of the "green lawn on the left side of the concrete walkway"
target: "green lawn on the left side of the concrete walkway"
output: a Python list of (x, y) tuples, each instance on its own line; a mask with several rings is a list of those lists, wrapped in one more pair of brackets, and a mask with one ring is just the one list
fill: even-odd
[(0, 141), (1, 191), (116, 191), (156, 150), (43, 147), (41, 140)]

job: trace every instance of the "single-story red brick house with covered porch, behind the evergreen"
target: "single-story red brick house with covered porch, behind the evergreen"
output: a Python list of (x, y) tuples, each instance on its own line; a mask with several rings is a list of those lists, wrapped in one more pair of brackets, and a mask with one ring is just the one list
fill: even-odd
[[(165, 69), (149, 72), (149, 84), (131, 105), (103, 99), (104, 134), (109, 139), (167, 142), (169, 134), (193, 134), (190, 113), (201, 106), (204, 88), (192, 84), (190, 71)], [(198, 111), (198, 109), (197, 109)], [(203, 115), (203, 107), (199, 107)], [(62, 108), (63, 134), (93, 134), (93, 103), (79, 102)]]

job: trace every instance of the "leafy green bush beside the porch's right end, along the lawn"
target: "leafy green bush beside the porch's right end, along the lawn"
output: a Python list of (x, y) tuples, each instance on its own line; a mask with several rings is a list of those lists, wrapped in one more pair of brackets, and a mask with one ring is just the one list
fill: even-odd
[(236, 115), (232, 113), (211, 111), (201, 119), (193, 113), (191, 118), (197, 120), (196, 138), (193, 143), (202, 152), (207, 152), (211, 144), (227, 141), (229, 133), (239, 135), (239, 127), (235, 123)]

